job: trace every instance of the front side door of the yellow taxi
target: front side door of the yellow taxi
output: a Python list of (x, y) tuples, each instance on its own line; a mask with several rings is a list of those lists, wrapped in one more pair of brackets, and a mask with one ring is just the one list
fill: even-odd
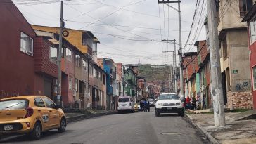
[(56, 110), (56, 105), (53, 103), (52, 100), (49, 98), (44, 98), (44, 103), (46, 104), (46, 109), (49, 112), (49, 123), (51, 125), (51, 128), (56, 128), (58, 127), (58, 124), (60, 122), (60, 114)]

